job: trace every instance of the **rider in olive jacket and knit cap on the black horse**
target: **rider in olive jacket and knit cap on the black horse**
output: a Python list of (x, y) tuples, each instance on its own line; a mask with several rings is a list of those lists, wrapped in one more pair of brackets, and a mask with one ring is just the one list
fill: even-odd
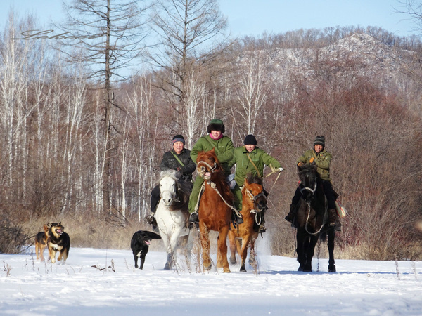
[[(324, 187), (324, 193), (328, 200), (328, 223), (330, 226), (335, 226), (335, 220), (337, 213), (335, 211), (335, 199), (336, 194), (333, 190), (333, 185), (330, 179), (330, 163), (331, 153), (325, 149), (325, 137), (316, 136), (314, 140), (314, 149), (305, 151), (302, 156), (296, 161), (297, 166), (300, 168), (303, 164), (316, 164), (316, 172), (319, 174)], [(296, 215), (296, 209), (300, 200), (300, 189), (296, 189), (295, 196), (290, 204), (290, 212), (287, 214), (285, 219), (293, 223)]]

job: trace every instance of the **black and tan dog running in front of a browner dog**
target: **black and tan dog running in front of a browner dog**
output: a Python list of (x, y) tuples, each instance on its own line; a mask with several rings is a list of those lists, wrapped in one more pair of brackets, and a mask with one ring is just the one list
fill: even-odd
[(50, 225), (47, 246), (49, 247), (51, 263), (56, 263), (57, 251), (59, 251), (57, 260), (60, 261), (63, 258), (63, 265), (66, 263), (66, 259), (68, 258), (70, 249), (70, 237), (64, 230), (65, 227), (61, 225), (61, 223), (52, 223)]

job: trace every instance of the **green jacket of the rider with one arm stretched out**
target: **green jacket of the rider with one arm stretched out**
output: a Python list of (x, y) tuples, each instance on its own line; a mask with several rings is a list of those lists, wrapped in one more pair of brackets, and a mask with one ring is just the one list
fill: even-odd
[(267, 152), (264, 150), (255, 147), (252, 152), (249, 153), (250, 159), (252, 162), (257, 166), (255, 166), (250, 162), (248, 159), (248, 150), (246, 150), (245, 146), (236, 147), (234, 150), (234, 157), (229, 162), (229, 167), (231, 168), (236, 164), (236, 172), (234, 174), (234, 180), (239, 186), (242, 186), (245, 182), (245, 177), (248, 173), (252, 173), (253, 176), (258, 176), (257, 169), (260, 171), (260, 176), (264, 176), (264, 166), (273, 166), (276, 169), (281, 168), (281, 164), (274, 158), (271, 157)]

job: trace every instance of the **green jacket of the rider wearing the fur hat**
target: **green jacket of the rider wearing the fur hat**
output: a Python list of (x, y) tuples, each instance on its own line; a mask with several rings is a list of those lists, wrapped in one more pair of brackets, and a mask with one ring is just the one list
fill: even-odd
[(229, 176), (229, 162), (233, 159), (234, 145), (231, 139), (227, 136), (223, 136), (219, 140), (213, 140), (209, 135), (199, 138), (191, 150), (191, 158), (193, 162), (196, 163), (198, 152), (207, 152), (212, 150), (212, 148), (215, 149), (215, 154), (217, 154), (218, 161), (222, 165), (224, 173), (226, 176)]

